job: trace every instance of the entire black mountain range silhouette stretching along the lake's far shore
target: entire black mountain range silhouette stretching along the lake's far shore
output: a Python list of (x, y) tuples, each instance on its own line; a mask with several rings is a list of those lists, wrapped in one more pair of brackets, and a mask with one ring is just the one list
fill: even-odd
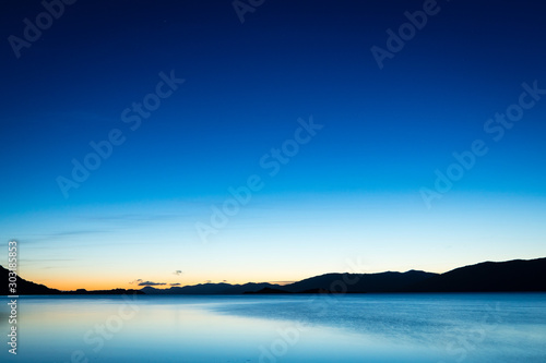
[[(141, 290), (59, 291), (17, 277), (17, 294), (242, 294), (242, 293), (393, 293), (393, 292), (533, 292), (546, 291), (546, 257), (485, 262), (444, 274), (418, 270), (379, 274), (324, 274), (289, 285), (248, 282), (245, 285), (200, 283)], [(9, 295), (9, 271), (0, 266), (0, 294)]]

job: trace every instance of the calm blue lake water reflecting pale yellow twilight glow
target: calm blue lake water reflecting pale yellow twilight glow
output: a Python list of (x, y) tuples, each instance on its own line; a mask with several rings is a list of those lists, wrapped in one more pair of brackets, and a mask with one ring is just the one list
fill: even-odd
[(1, 362), (546, 362), (546, 294), (27, 297)]

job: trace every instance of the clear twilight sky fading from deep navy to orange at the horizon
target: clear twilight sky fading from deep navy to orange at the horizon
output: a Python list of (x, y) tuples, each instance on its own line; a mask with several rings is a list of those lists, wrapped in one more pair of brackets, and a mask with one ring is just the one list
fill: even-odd
[(546, 256), (545, 10), (3, 1), (0, 265), (15, 240), (71, 290)]

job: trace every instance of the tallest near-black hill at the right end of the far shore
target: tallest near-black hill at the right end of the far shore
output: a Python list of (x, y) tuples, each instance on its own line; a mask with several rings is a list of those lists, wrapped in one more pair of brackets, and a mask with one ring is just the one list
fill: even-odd
[(415, 292), (546, 291), (546, 258), (485, 262), (415, 283)]

